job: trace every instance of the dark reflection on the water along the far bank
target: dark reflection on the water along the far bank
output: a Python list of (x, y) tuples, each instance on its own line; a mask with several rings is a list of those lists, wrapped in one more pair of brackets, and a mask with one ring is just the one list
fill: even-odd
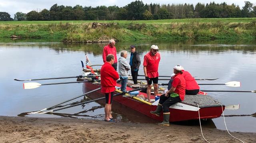
[[(15, 40), (11, 43), (9, 40), (0, 40), (1, 45), (10, 45), (12, 47), (39, 47), (54, 49), (56, 53), (66, 51), (83, 51), (84, 53), (92, 53), (93, 55), (102, 55), (102, 50), (108, 43), (51, 43), (54, 41), (45, 40)], [(25, 43), (20, 43), (25, 42)], [(43, 43), (41, 43), (43, 42)], [(56, 41), (55, 41), (56, 42)], [(135, 42), (117, 42), (116, 50), (130, 51), (130, 45), (135, 45), (138, 53), (148, 52), (152, 44), (158, 45), (160, 51), (168, 51), (171, 53), (184, 52), (187, 54), (197, 54), (200, 51), (208, 51), (210, 54), (218, 54), (225, 51), (242, 51), (243, 54), (255, 54), (256, 41), (135, 41)]]

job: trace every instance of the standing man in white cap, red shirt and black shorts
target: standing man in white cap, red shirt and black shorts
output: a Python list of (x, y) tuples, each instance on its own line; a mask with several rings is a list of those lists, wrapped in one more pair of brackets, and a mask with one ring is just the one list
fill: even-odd
[(154, 95), (158, 94), (158, 65), (160, 62), (160, 54), (158, 53), (158, 46), (152, 45), (150, 51), (144, 56), (144, 74), (148, 82), (147, 96), (148, 102), (151, 102), (151, 84), (154, 84)]

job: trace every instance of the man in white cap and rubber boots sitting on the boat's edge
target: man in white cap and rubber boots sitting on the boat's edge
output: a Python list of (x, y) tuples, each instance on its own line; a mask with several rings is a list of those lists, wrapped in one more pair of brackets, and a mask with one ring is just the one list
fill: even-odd
[(169, 107), (177, 102), (183, 101), (185, 97), (186, 81), (182, 76), (182, 67), (176, 65), (173, 69), (175, 74), (172, 82), (172, 88), (160, 96), (156, 111), (150, 111), (151, 114), (160, 116), (161, 110), (163, 110), (164, 121), (158, 123), (158, 125), (170, 125), (170, 110)]

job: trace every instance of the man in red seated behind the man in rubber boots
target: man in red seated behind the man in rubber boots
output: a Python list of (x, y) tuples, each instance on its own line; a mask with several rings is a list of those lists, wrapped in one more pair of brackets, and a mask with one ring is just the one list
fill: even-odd
[[(182, 66), (180, 66), (182, 67)], [(184, 77), (186, 81), (186, 93), (187, 95), (196, 95), (199, 92), (200, 87), (198, 86), (198, 83), (196, 82), (195, 78), (188, 72), (185, 71), (182, 67), (182, 76)], [(172, 87), (172, 80), (171, 79), (168, 83), (168, 90)]]

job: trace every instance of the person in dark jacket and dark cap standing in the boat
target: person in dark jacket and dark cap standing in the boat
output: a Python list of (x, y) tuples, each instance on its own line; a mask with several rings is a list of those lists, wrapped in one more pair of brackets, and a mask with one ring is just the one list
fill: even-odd
[(131, 73), (132, 73), (132, 80), (134, 84), (138, 84), (138, 71), (140, 67), (140, 55), (135, 51), (136, 48), (134, 45), (130, 46), (131, 48), (131, 57), (130, 57), (130, 66), (131, 66)]

